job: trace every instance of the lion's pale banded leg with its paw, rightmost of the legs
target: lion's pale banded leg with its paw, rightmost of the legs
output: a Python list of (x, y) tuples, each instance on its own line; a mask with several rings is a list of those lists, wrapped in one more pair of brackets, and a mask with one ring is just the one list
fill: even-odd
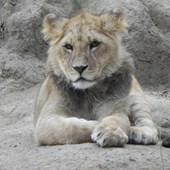
[(156, 144), (158, 132), (150, 116), (150, 109), (143, 96), (131, 96), (130, 119), (132, 127), (129, 132), (129, 142), (135, 144)]

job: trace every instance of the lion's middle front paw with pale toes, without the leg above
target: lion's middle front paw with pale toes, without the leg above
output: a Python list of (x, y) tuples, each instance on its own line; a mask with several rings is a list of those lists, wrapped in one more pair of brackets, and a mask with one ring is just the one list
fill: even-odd
[(101, 147), (124, 146), (128, 142), (128, 136), (121, 128), (98, 126), (91, 135), (92, 141)]

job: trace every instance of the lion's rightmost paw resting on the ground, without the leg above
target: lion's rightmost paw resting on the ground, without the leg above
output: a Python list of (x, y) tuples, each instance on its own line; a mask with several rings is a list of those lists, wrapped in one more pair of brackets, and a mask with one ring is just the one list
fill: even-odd
[(129, 143), (150, 145), (158, 142), (158, 133), (151, 127), (131, 127), (129, 132)]

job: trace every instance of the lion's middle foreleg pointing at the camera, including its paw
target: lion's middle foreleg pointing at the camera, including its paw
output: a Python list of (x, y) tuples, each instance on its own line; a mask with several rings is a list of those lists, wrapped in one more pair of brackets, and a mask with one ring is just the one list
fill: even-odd
[(114, 113), (96, 126), (91, 137), (101, 147), (124, 146), (128, 142), (129, 128), (128, 116)]

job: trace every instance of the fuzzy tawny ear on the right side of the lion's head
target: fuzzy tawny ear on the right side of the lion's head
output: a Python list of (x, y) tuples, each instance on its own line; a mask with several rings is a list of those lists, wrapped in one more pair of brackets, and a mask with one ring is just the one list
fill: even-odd
[(112, 32), (124, 32), (127, 29), (127, 22), (124, 17), (123, 9), (116, 8), (108, 14), (100, 16), (104, 29)]

